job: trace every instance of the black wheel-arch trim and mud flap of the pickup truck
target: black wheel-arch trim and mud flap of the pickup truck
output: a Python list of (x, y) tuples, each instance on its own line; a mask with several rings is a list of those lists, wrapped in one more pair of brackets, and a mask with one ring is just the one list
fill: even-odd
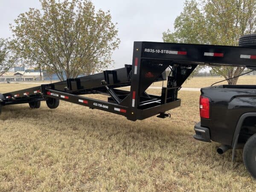
[(232, 140), (232, 148), (233, 148), (232, 161), (235, 160), (236, 145), (238, 143), (238, 138), (239, 138), (239, 134), (240, 134), (241, 127), (243, 125), (244, 119), (246, 119), (249, 116), (256, 116), (256, 113), (244, 113), (244, 114), (242, 114), (240, 116), (237, 124), (236, 124), (236, 129), (235, 129), (235, 132), (234, 132), (234, 135), (233, 135), (233, 140)]

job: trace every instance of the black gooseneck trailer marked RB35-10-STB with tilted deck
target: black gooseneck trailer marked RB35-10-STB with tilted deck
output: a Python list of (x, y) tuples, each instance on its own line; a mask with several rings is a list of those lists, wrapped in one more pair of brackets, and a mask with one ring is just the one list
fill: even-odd
[[(57, 108), (59, 100), (84, 105), (126, 116), (129, 120), (154, 115), (168, 116), (166, 111), (180, 106), (178, 90), (198, 64), (256, 67), (256, 48), (134, 42), (132, 65), (106, 70), (89, 76), (42, 84), (24, 90), (0, 94), (0, 111), (4, 105), (29, 103), (39, 108), (46, 101), (49, 108)], [(166, 69), (170, 73), (166, 76)], [(160, 96), (146, 93), (155, 81), (167, 80)], [(130, 86), (130, 91), (118, 89)], [(108, 95), (108, 101), (84, 95)]]

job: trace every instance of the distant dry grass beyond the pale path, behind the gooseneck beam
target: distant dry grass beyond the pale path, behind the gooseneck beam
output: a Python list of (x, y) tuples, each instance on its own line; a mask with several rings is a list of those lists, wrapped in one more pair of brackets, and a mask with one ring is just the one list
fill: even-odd
[[(223, 77), (193, 77), (192, 79), (187, 80), (182, 87), (209, 87), (211, 84), (224, 80)], [(227, 81), (223, 81), (218, 84), (227, 84)], [(218, 85), (216, 84), (216, 85)], [(256, 76), (241, 76), (238, 79), (237, 84), (256, 84)], [(156, 82), (152, 86), (162, 86), (162, 82)]]

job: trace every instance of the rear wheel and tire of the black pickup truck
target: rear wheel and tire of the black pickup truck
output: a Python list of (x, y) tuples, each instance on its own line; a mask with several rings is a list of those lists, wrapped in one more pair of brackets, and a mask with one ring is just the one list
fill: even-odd
[(256, 179), (256, 134), (251, 136), (245, 143), (243, 160), (247, 171)]

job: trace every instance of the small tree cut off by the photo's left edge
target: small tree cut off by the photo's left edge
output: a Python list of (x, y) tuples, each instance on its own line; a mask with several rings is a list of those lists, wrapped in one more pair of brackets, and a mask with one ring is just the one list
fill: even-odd
[(16, 61), (16, 57), (9, 48), (8, 41), (0, 38), (0, 76), (14, 67)]

